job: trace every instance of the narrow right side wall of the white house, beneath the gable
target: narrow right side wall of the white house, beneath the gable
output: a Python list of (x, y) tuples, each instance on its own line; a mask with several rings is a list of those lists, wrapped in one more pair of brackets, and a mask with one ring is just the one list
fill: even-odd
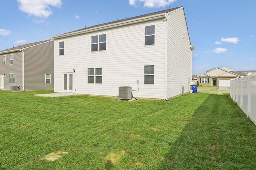
[(167, 98), (190, 90), (192, 51), (183, 8), (166, 15), (167, 18)]

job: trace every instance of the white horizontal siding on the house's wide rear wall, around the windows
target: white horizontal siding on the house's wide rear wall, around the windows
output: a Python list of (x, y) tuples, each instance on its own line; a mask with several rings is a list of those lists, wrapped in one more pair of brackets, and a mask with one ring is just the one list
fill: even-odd
[[(155, 45), (144, 45), (145, 27), (155, 25)], [(133, 92), (138, 98), (165, 98), (164, 95), (164, 55), (166, 25), (162, 19), (140, 22), (102, 32), (87, 33), (72, 37), (62, 37), (65, 41), (65, 56), (58, 56), (60, 39), (55, 39), (54, 54), (54, 92), (62, 92), (62, 73), (74, 68), (73, 93), (104, 96), (117, 96), (119, 86), (132, 86), (139, 91)], [(107, 35), (107, 52), (91, 52), (92, 36)], [(99, 38), (99, 37), (98, 37)], [(124, 41), (125, 40), (125, 41)], [(76, 57), (74, 57), (76, 56)], [(72, 57), (72, 60), (70, 60)], [(154, 84), (144, 85), (144, 66), (154, 65)], [(104, 68), (101, 83), (88, 81), (88, 68)], [(95, 73), (94, 73), (95, 74)], [(85, 80), (85, 81), (81, 81)]]

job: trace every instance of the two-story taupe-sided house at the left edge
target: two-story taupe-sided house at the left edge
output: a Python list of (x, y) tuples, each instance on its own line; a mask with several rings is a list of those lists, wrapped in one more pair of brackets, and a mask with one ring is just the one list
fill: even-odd
[(46, 40), (0, 51), (0, 89), (53, 89), (53, 47), (54, 42)]

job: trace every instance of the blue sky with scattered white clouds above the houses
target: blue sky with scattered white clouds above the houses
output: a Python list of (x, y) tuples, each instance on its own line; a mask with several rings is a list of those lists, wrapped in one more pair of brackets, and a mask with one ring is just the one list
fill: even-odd
[(183, 6), (192, 74), (256, 70), (255, 0), (1, 0), (0, 51), (69, 31)]

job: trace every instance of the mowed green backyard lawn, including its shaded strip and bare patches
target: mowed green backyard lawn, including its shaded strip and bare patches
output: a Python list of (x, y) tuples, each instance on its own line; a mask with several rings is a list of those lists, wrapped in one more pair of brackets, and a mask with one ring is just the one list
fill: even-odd
[(256, 169), (256, 126), (223, 93), (171, 100), (0, 90), (0, 170)]

